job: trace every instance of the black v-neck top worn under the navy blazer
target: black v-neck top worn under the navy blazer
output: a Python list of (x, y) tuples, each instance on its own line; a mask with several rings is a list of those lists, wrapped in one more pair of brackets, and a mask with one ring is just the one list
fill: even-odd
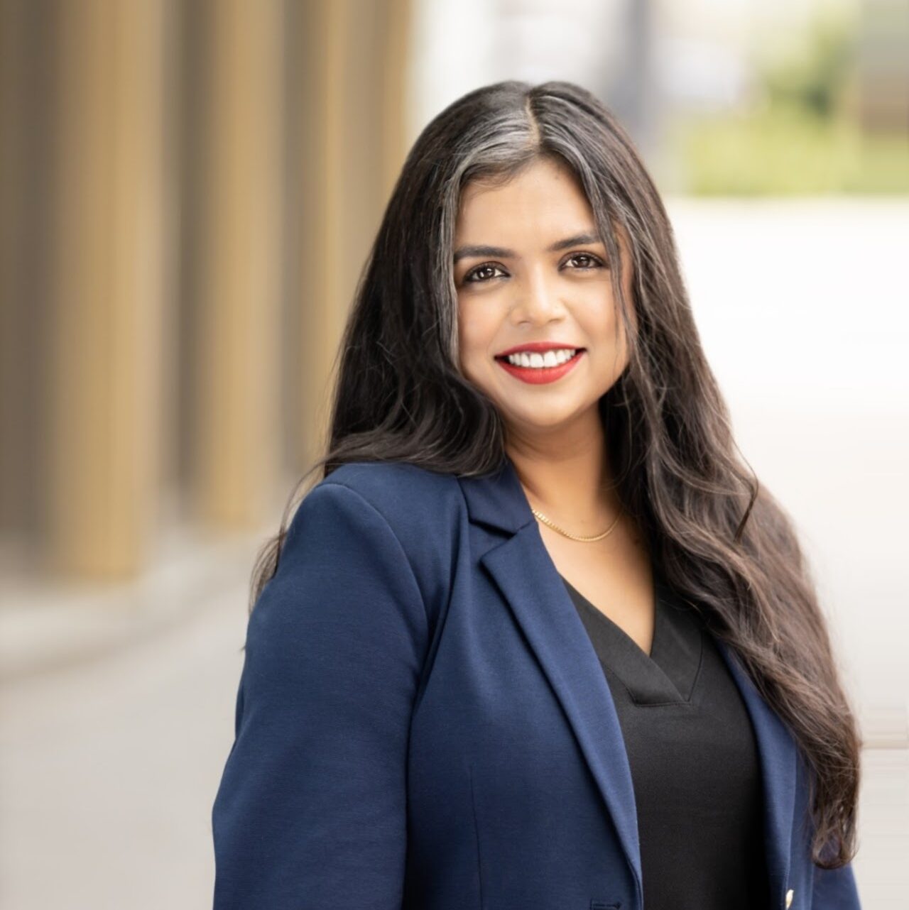
[(562, 577), (618, 713), (647, 910), (766, 910), (751, 717), (698, 612), (654, 570), (650, 654)]

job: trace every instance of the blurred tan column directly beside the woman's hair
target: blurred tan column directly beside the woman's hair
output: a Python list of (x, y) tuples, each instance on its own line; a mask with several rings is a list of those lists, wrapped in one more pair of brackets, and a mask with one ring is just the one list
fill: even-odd
[(410, 0), (308, 0), (297, 24), (301, 466), (322, 451), (332, 362), (405, 154)]

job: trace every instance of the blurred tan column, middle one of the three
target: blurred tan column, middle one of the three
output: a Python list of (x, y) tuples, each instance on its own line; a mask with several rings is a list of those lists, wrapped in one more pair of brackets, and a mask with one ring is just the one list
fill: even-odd
[(282, 5), (203, 10), (192, 502), (231, 528), (268, 517), (279, 467)]

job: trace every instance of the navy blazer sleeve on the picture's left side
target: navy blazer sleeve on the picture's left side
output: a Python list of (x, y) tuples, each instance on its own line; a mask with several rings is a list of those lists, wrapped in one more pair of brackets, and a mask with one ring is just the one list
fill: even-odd
[(211, 813), (215, 910), (400, 910), (427, 639), (392, 528), (359, 492), (323, 480), (250, 613)]

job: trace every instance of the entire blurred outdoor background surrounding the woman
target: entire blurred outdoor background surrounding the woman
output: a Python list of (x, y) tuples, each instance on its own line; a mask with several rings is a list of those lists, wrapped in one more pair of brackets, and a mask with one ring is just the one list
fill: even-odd
[(210, 905), (253, 561), (407, 149), (504, 78), (595, 92), (666, 199), (905, 907), (909, 3), (0, 0), (5, 910)]

